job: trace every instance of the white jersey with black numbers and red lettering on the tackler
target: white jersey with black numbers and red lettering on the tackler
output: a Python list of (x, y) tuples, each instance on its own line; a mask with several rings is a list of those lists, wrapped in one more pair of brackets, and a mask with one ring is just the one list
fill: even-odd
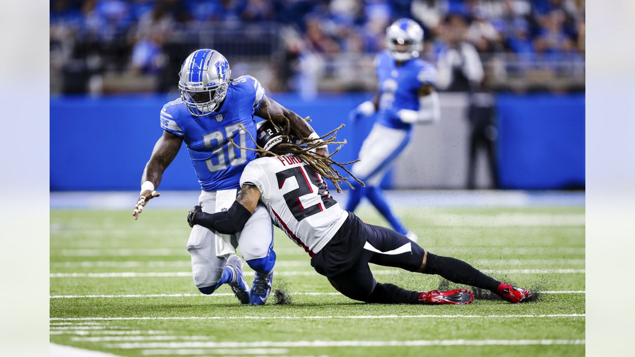
[(244, 168), (241, 187), (258, 187), (274, 224), (314, 257), (349, 213), (328, 192), (326, 181), (297, 156), (258, 158)]

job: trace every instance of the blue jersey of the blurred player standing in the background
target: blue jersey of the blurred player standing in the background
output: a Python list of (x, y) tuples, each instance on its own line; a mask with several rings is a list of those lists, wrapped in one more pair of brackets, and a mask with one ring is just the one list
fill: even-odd
[(401, 121), (396, 112), (419, 110), (418, 90), (423, 84), (434, 86), (434, 65), (415, 57), (398, 66), (389, 51), (381, 51), (375, 66), (380, 91), (378, 122), (389, 128), (410, 129), (412, 125)]

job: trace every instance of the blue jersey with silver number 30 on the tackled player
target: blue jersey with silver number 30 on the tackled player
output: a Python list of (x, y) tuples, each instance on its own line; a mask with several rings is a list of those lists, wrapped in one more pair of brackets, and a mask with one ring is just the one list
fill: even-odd
[(223, 105), (207, 116), (192, 116), (181, 99), (173, 100), (161, 110), (161, 128), (182, 137), (194, 170), (204, 191), (239, 188), (244, 166), (255, 159), (256, 144), (240, 125), (256, 137), (256, 121), (265, 90), (257, 79), (242, 76), (231, 81)]

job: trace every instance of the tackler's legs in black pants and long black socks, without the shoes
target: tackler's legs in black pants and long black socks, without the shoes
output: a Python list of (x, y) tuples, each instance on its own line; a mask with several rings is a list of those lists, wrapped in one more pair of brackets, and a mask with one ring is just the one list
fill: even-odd
[[(366, 243), (350, 269), (328, 276), (331, 285), (345, 296), (380, 304), (417, 304), (420, 292), (393, 284), (377, 283), (368, 263), (420, 271), (425, 251), (406, 236), (385, 227), (365, 224)], [(495, 292), (499, 281), (481, 273), (466, 262), (451, 257), (427, 254), (424, 274), (438, 274), (453, 283), (477, 286)]]

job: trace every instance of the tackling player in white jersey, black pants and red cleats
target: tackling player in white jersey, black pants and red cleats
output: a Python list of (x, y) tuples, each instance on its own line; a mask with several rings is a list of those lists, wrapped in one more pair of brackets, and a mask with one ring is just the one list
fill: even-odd
[[(328, 142), (329, 140), (326, 140)], [(474, 294), (465, 289), (417, 292), (378, 283), (368, 263), (400, 267), (411, 272), (438, 274), (458, 284), (496, 293), (509, 302), (521, 302), (529, 290), (501, 283), (466, 262), (426, 252), (403, 234), (365, 224), (342, 210), (328, 191), (326, 179), (339, 189), (343, 177), (332, 175), (309, 147), (295, 144), (271, 121), (258, 123), (261, 157), (241, 175), (241, 194), (227, 212), (205, 213), (199, 206), (187, 216), (190, 226), (200, 225), (224, 234), (243, 229), (258, 203), (266, 206), (274, 224), (311, 257), (311, 266), (345, 296), (384, 304), (469, 304)], [(341, 166), (340, 166), (341, 167)]]

